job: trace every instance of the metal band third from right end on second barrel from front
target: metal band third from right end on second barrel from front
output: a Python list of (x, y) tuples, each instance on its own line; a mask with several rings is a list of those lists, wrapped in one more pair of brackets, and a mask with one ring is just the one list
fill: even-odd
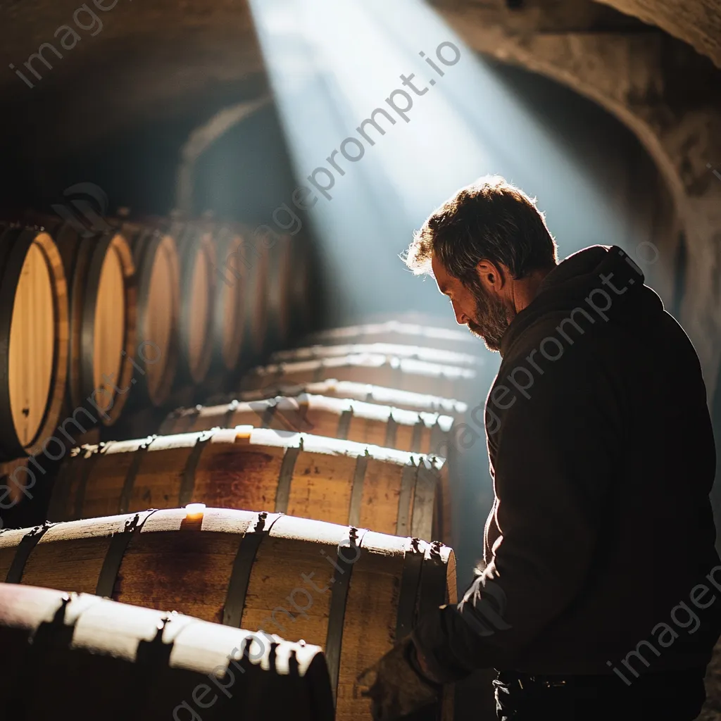
[[(366, 528), (358, 529), (351, 527), (348, 530), (348, 539), (341, 541), (337, 547), (337, 559), (335, 561), (335, 572), (333, 573), (330, 592), (330, 608), (328, 610), (328, 629), (325, 638), (325, 660), (328, 666), (334, 705), (338, 693), (340, 652), (342, 650), (345, 607), (348, 603), (350, 576), (353, 573), (353, 565), (361, 556), (363, 536), (366, 535)], [(344, 548), (347, 549), (345, 554), (342, 552)], [(350, 551), (353, 551), (355, 558), (351, 559), (346, 555)]]

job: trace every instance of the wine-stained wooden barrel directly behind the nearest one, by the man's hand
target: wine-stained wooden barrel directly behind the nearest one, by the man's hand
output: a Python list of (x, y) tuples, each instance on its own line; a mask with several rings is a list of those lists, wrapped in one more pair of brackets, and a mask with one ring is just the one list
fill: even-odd
[[(337, 721), (371, 720), (358, 674), (420, 615), (456, 603), (455, 567), (442, 544), (227, 508), (0, 532), (6, 583), (175, 609), (323, 647)], [(443, 711), (449, 718), (450, 704)]]

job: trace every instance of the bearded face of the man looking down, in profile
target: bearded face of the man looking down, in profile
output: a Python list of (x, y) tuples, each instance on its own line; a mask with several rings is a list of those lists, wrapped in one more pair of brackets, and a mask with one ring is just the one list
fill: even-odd
[(431, 267), (438, 290), (451, 299), (456, 322), (467, 326), (473, 335), (481, 338), (488, 350), (500, 350), (500, 340), (513, 318), (510, 308), (495, 293), (487, 291), (480, 279), (473, 288), (465, 286), (448, 273), (435, 255)]

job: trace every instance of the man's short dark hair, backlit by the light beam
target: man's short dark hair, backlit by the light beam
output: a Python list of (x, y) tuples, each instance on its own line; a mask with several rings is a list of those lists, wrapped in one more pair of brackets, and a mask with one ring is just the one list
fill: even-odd
[(481, 260), (503, 263), (515, 279), (557, 262), (556, 243), (536, 198), (500, 175), (479, 178), (446, 200), (415, 231), (403, 260), (415, 275), (430, 275), (434, 253), (469, 287), (477, 285)]

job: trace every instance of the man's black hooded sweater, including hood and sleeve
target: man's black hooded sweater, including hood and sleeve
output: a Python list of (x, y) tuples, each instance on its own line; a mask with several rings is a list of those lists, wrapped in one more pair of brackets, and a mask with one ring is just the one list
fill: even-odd
[(706, 389), (643, 280), (621, 249), (586, 248), (503, 337), (486, 402), (485, 569), (415, 632), (448, 680), (490, 667), (632, 679), (710, 658), (721, 565)]

